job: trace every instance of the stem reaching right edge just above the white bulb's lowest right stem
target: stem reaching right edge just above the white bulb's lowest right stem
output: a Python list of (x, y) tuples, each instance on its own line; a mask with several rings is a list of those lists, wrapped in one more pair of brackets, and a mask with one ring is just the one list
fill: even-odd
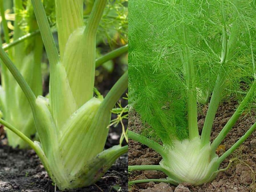
[(248, 103), (250, 102), (251, 98), (254, 96), (255, 90), (256, 90), (256, 80), (254, 80), (250, 90), (248, 91), (247, 95), (245, 96), (243, 101), (238, 106), (236, 112), (232, 115), (232, 117), (228, 120), (227, 124), (220, 131), (219, 135), (212, 142), (212, 144), (211, 144), (212, 152), (215, 152), (215, 150), (220, 145), (220, 143), (223, 141), (223, 139), (226, 137), (228, 132), (235, 125), (236, 121), (241, 116), (242, 112), (245, 110)]

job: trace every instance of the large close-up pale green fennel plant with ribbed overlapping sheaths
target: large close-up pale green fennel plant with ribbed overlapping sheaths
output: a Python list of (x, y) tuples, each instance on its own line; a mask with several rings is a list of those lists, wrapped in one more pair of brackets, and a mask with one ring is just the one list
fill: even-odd
[(61, 190), (95, 183), (128, 146), (104, 150), (111, 110), (128, 86), (128, 72), (105, 98), (94, 93), (95, 65), (117, 57), (127, 46), (96, 57), (96, 32), (107, 0), (96, 0), (86, 25), (83, 0), (55, 0), (59, 53), (41, 0), (31, 0), (50, 63), (49, 99), (38, 96), (10, 57), (0, 57), (26, 95), (40, 142), (31, 141), (11, 123), (0, 123), (32, 147)]

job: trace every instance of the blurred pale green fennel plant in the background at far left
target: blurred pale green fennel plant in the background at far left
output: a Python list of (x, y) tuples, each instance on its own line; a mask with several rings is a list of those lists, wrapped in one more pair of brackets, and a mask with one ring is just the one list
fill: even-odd
[[(3, 0), (0, 1), (0, 11), (5, 43), (9, 44), (9, 29), (4, 14), (5, 9), (7, 8), (4, 7), (4, 3)], [(25, 34), (37, 30), (38, 26), (30, 1), (26, 3), (26, 7), (23, 6), (22, 1), (18, 0), (14, 0), (13, 4), (15, 11), (13, 41), (16, 41)], [(9, 7), (9, 9), (11, 9), (11, 7)], [(31, 87), (33, 93), (36, 96), (41, 95), (41, 58), (43, 53), (43, 42), (40, 34), (36, 34), (36, 36), (20, 42), (16, 46), (7, 47), (5, 49), (8, 50), (10, 59), (15, 63), (17, 69)], [(33, 72), (31, 73), (31, 71)], [(1, 72), (2, 86), (0, 102), (3, 116), (9, 123), (17, 127), (27, 137), (31, 138), (32, 135), (35, 135), (36, 129), (28, 100), (3, 63), (1, 63)], [(7, 137), (8, 143), (12, 147), (28, 147), (28, 144), (25, 141), (10, 130), (7, 130)]]

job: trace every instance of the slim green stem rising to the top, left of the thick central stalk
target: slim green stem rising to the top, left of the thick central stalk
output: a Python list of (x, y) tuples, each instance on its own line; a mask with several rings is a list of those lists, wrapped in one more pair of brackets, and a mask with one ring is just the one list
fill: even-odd
[(50, 26), (46, 17), (46, 13), (44, 11), (44, 6), (42, 1), (31, 0), (31, 2), (34, 7), (36, 20), (42, 35), (46, 53), (48, 55), (49, 62), (51, 64), (50, 66), (51, 66), (51, 69), (53, 69), (54, 66), (57, 63), (59, 63), (60, 60), (59, 60), (59, 54), (55, 46), (51, 30), (50, 30)]

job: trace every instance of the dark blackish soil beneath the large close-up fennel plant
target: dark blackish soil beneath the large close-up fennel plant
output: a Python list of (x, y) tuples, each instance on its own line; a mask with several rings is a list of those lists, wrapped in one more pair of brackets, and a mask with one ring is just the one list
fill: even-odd
[[(3, 140), (3, 142), (6, 141)], [(34, 150), (13, 149), (0, 144), (0, 159), (0, 191), (55, 190)], [(116, 191), (114, 187), (117, 185), (120, 185), (122, 191), (127, 191), (127, 161), (127, 154), (125, 154), (95, 185), (72, 191)]]

